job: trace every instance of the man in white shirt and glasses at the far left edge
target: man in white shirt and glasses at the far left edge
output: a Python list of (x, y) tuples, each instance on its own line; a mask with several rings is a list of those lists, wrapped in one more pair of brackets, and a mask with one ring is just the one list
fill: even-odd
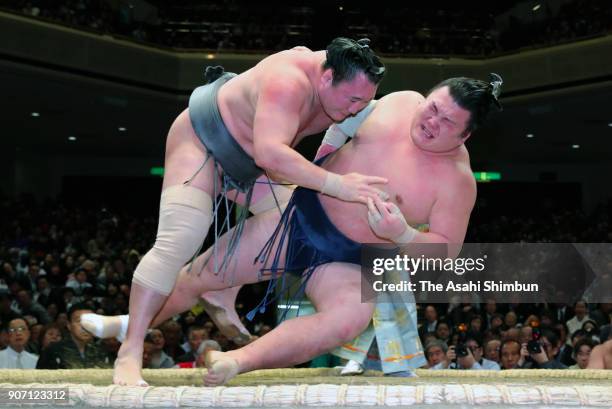
[(25, 350), (30, 340), (30, 329), (26, 320), (15, 318), (8, 323), (8, 346), (0, 351), (0, 368), (34, 369), (38, 356)]

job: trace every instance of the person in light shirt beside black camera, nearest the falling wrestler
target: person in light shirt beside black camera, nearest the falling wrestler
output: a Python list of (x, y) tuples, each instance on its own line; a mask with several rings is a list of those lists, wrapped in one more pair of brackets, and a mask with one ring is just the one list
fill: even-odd
[[(463, 356), (457, 353), (457, 348), (461, 347), (465, 353)], [(444, 359), (430, 369), (489, 369), (499, 371), (499, 364), (490, 361), (482, 356), (482, 341), (476, 333), (468, 333), (465, 336), (465, 341), (461, 345), (451, 345)]]

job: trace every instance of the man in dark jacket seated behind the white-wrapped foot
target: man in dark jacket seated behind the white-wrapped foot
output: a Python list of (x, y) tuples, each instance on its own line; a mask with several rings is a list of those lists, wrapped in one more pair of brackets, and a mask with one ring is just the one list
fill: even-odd
[(93, 312), (83, 304), (68, 311), (69, 336), (50, 344), (38, 360), (38, 369), (112, 368), (106, 352), (94, 343), (93, 336), (81, 326), (81, 315)]

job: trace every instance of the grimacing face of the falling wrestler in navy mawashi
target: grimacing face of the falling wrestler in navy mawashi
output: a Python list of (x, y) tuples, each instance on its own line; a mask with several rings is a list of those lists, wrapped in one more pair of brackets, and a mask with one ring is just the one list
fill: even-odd
[(466, 127), (470, 112), (461, 108), (448, 87), (438, 88), (419, 104), (412, 120), (410, 137), (428, 152), (442, 153), (462, 145), (470, 136)]

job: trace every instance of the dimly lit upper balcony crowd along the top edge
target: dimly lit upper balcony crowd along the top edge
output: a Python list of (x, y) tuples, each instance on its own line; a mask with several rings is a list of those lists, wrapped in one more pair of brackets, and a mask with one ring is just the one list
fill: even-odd
[(380, 7), (371, 2), (8, 0), (3, 7), (140, 42), (220, 52), (270, 52), (345, 35), (369, 37), (378, 52), (388, 55), (484, 57), (612, 30), (612, 8), (605, 0), (550, 4), (521, 12), (503, 5), (485, 10), (452, 2)]

